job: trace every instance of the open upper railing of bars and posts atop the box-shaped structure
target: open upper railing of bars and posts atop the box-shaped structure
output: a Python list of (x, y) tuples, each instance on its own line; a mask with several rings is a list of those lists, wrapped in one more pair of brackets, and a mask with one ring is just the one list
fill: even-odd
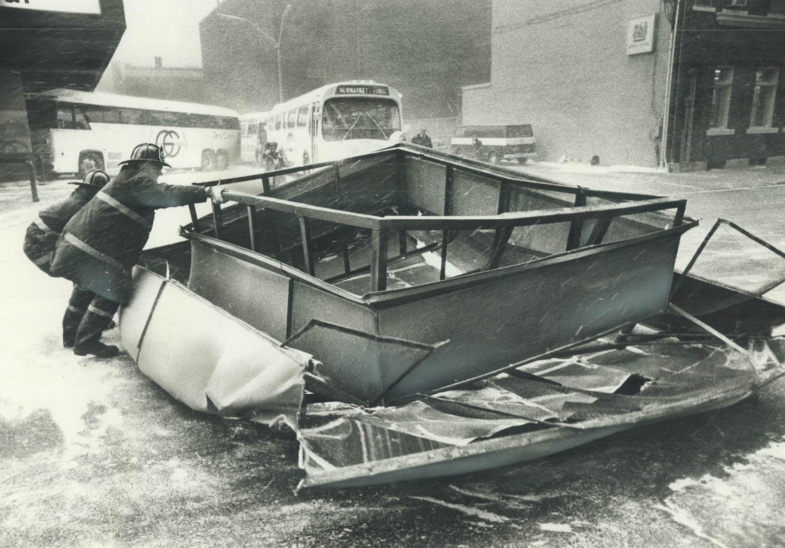
[[(292, 214), (298, 217), (301, 233), (302, 253), (305, 264), (305, 272), (314, 275), (315, 257), (312, 248), (311, 222), (327, 221), (337, 225), (352, 228), (363, 228), (371, 230), (371, 293), (384, 291), (387, 281), (387, 265), (389, 261), (406, 257), (407, 250), (406, 232), (413, 230), (439, 230), (443, 232), (440, 245), (440, 280), (445, 279), (445, 266), (447, 261), (447, 247), (449, 245), (449, 234), (456, 230), (495, 230), (495, 240), (491, 251), (491, 257), (484, 270), (497, 269), (500, 259), (509, 241), (514, 228), (531, 225), (548, 225), (560, 222), (570, 222), (570, 232), (565, 242), (564, 251), (577, 250), (580, 247), (596, 246), (602, 243), (608, 226), (615, 217), (630, 214), (651, 213), (663, 210), (675, 210), (673, 228), (681, 226), (684, 222), (686, 199), (669, 199), (650, 195), (629, 194), (623, 192), (596, 191), (581, 187), (569, 187), (553, 181), (534, 181), (529, 178), (520, 177), (517, 172), (500, 169), (476, 160), (465, 159), (462, 156), (445, 154), (440, 152), (421, 152), (420, 148), (410, 148), (405, 145), (394, 145), (380, 151), (371, 152), (365, 155), (356, 156), (351, 159), (356, 162), (358, 159), (371, 158), (375, 155), (389, 154), (396, 149), (399, 155), (403, 155), (403, 150), (416, 152), (422, 159), (443, 165), (445, 168), (444, 181), (444, 211), (439, 215), (406, 216), (397, 215), (390, 217), (380, 217), (375, 215), (353, 213), (344, 210), (336, 210), (322, 206), (314, 206), (306, 203), (292, 202), (287, 199), (273, 198), (271, 196), (251, 195), (244, 192), (224, 191), (225, 199), (233, 202), (242, 203), (246, 206), (248, 230), (250, 233), (250, 249), (257, 251), (257, 223), (258, 210), (274, 210), (285, 214)], [(205, 186), (217, 184), (232, 184), (242, 181), (254, 181), (261, 179), (264, 193), (271, 190), (270, 181), (273, 177), (280, 177), (287, 174), (295, 174), (305, 171), (317, 170), (319, 168), (331, 168), (334, 172), (334, 184), (336, 188), (341, 181), (341, 165), (344, 161), (329, 163), (316, 163), (309, 166), (297, 166), (284, 170), (276, 170), (261, 175), (250, 175), (244, 177), (233, 177), (223, 181), (210, 181), (202, 183)], [(496, 215), (451, 215), (450, 196), (452, 192), (452, 181), (455, 173), (465, 170), (472, 174), (481, 175), (491, 180), (498, 181), (500, 184), (498, 197), (498, 213)], [(509, 211), (509, 195), (513, 186), (520, 186), (526, 189), (542, 189), (564, 194), (575, 195), (574, 206), (550, 210), (532, 210), (523, 212)], [(615, 203), (605, 206), (587, 206), (586, 198), (597, 197), (604, 199), (626, 199), (637, 200), (633, 203)], [(644, 198), (644, 199), (641, 199)], [(201, 232), (199, 221), (195, 214), (195, 208), (191, 206), (191, 215), (194, 231)], [(221, 237), (221, 227), (223, 220), (220, 206), (213, 206), (214, 232), (217, 238)], [(590, 232), (589, 238), (583, 245), (579, 242), (579, 236), (586, 221), (595, 221)], [(272, 227), (274, 229), (274, 227)], [(393, 258), (388, 258), (389, 235), (399, 234), (400, 254)], [(345, 274), (353, 275), (360, 273), (349, 268), (346, 243), (343, 242), (343, 255)], [(420, 250), (422, 252), (422, 250)]]

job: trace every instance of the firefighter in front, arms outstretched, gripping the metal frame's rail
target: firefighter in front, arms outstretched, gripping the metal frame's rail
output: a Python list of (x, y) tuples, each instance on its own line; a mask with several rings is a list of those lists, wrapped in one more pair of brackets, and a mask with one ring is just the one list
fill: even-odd
[(117, 177), (102, 188), (65, 225), (57, 240), (50, 269), (89, 293), (74, 338), (77, 356), (115, 356), (119, 349), (104, 345), (100, 334), (131, 292), (131, 269), (152, 229), (155, 210), (199, 203), (208, 197), (224, 201), (215, 187), (162, 184), (163, 152), (155, 144), (138, 145), (120, 163)]

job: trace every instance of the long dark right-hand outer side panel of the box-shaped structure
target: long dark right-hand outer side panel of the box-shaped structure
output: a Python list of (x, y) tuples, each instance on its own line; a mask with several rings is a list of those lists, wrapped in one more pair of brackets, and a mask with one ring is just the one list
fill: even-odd
[[(379, 334), (435, 343), (387, 396), (425, 392), (663, 310), (679, 234), (378, 311)], [(514, 268), (514, 267), (513, 267)]]

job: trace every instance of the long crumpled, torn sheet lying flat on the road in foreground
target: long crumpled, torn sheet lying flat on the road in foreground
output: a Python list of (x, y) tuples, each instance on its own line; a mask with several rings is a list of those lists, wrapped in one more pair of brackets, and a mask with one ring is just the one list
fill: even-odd
[[(781, 371), (781, 362), (776, 367)], [(646, 422), (725, 407), (760, 382), (750, 356), (681, 342), (520, 370), (397, 407), (309, 406), (298, 430), (307, 474), (301, 488), (437, 477), (541, 458)], [(644, 382), (636, 394), (623, 393), (633, 375)]]

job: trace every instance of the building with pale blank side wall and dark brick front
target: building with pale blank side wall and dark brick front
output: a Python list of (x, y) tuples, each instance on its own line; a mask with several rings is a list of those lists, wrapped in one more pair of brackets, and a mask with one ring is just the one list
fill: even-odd
[(463, 123), (531, 123), (541, 159), (780, 161), (783, 5), (494, 0), (491, 79), (464, 88)]

